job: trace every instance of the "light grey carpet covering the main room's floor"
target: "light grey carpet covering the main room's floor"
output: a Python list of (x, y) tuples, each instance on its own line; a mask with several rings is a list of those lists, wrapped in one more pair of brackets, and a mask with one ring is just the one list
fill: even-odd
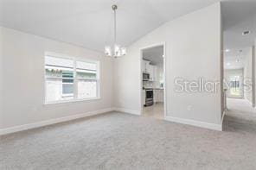
[(112, 112), (1, 137), (0, 169), (255, 170), (256, 129)]

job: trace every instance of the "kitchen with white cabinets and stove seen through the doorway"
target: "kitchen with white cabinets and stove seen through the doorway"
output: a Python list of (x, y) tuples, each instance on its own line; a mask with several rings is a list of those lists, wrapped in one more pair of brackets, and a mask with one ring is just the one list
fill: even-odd
[(143, 115), (163, 119), (163, 45), (143, 49), (142, 58)]

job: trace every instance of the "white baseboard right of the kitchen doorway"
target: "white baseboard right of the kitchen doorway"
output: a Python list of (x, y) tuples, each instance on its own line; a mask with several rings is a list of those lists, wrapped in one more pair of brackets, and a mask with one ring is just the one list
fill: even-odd
[(164, 120), (174, 122), (174, 123), (182, 123), (182, 124), (188, 124), (188, 125), (197, 126), (197, 127), (201, 127), (201, 128), (222, 131), (222, 124), (203, 123), (200, 121), (182, 119), (182, 118), (173, 117), (173, 116), (165, 116)]

